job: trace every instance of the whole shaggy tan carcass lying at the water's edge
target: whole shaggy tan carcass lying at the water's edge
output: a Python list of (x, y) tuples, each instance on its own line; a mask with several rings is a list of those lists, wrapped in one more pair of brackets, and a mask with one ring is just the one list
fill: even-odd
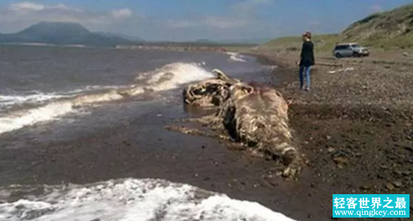
[(286, 166), (282, 175), (292, 177), (303, 165), (298, 145), (289, 127), (288, 103), (273, 87), (245, 83), (219, 70), (207, 79), (183, 90), (187, 105), (219, 106), (214, 116), (197, 119), (206, 125), (221, 126), (254, 154), (280, 159)]

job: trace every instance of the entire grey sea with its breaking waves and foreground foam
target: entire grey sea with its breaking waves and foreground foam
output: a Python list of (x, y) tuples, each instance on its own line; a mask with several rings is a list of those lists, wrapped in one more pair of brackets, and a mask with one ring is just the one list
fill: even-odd
[[(69, 140), (176, 107), (183, 87), (214, 77), (214, 69), (245, 81), (264, 81), (275, 68), (237, 53), (2, 45), (0, 149), (30, 148), (33, 139)], [(30, 191), (39, 188), (39, 194)], [(23, 193), (10, 200), (16, 191)], [(0, 220), (292, 219), (258, 202), (185, 183), (122, 178), (82, 185), (0, 186)]]

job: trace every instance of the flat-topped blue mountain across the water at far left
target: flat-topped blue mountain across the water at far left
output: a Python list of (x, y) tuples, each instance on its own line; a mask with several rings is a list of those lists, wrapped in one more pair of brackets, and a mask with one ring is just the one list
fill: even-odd
[(90, 32), (78, 23), (41, 22), (14, 34), (0, 34), (0, 43), (49, 43), (114, 47), (133, 43), (120, 36)]

